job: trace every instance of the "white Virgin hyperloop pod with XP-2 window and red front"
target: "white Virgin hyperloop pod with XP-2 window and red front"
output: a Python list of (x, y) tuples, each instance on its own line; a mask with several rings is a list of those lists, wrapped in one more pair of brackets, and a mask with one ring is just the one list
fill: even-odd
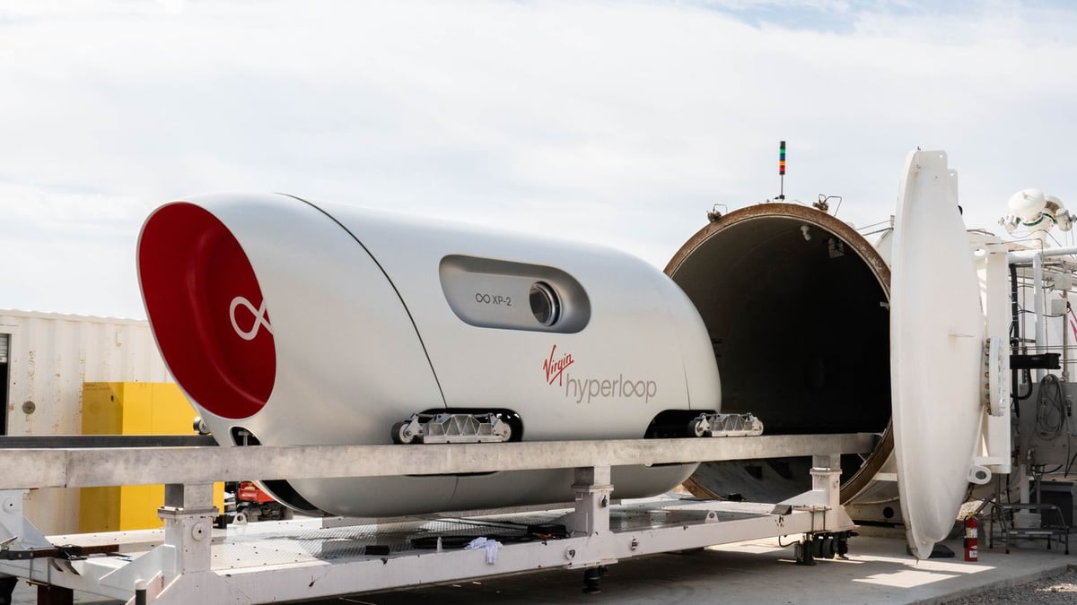
[[(442, 411), (492, 413), (513, 440), (643, 438), (721, 405), (691, 301), (606, 249), (214, 195), (154, 211), (138, 266), (165, 362), (222, 446), (390, 444), (394, 424)], [(615, 495), (668, 491), (696, 467), (614, 467)], [(571, 469), (265, 483), (348, 516), (573, 497)]]

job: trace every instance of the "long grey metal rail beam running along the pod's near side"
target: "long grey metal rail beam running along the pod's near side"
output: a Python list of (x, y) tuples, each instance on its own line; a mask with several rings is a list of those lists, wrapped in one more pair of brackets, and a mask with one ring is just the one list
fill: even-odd
[(866, 453), (877, 440), (871, 433), (853, 433), (410, 446), (0, 449), (0, 490), (755, 460)]

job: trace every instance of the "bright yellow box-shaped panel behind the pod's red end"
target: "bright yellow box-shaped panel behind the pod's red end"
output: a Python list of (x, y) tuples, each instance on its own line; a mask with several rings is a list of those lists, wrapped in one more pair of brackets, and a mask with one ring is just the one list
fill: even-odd
[[(192, 435), (196, 412), (171, 382), (83, 384), (84, 435)], [(157, 509), (164, 486), (84, 488), (79, 531), (112, 532), (160, 527)], [(213, 484), (213, 505), (224, 509), (224, 483)]]

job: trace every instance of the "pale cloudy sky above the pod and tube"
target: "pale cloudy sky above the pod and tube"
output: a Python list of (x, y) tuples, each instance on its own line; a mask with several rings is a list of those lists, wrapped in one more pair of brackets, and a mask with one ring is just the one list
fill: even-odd
[(663, 267), (779, 193), (780, 140), (857, 226), (945, 150), (1002, 234), (1024, 187), (1077, 210), (1075, 38), (1064, 0), (0, 0), (0, 308), (143, 319), (142, 222), (220, 191)]

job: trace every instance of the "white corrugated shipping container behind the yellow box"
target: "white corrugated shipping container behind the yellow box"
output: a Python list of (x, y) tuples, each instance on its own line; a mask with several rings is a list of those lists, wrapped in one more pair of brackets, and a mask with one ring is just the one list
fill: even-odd
[[(82, 433), (84, 382), (172, 382), (146, 321), (0, 309), (0, 434)], [(79, 527), (79, 490), (34, 490), (46, 534)]]

